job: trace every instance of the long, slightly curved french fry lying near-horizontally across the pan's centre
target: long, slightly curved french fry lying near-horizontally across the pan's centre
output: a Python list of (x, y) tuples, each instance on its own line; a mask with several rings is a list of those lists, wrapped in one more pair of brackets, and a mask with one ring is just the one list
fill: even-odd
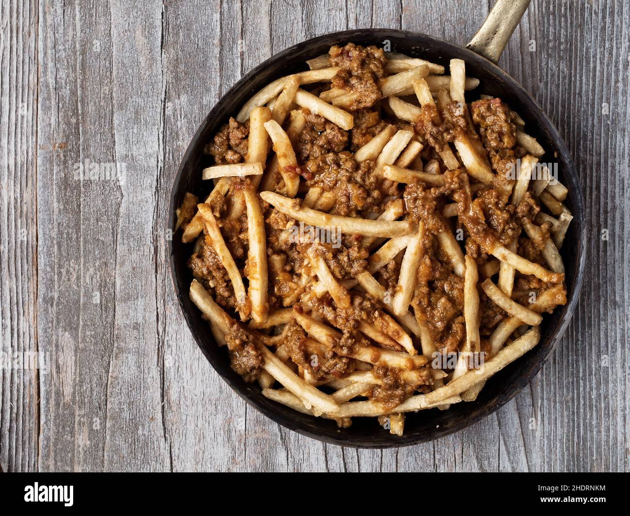
[(365, 236), (401, 236), (411, 232), (411, 224), (403, 221), (369, 221), (340, 217), (306, 207), (294, 207), (294, 201), (273, 192), (262, 192), (260, 197), (280, 212), (311, 226), (338, 227), (342, 232)]

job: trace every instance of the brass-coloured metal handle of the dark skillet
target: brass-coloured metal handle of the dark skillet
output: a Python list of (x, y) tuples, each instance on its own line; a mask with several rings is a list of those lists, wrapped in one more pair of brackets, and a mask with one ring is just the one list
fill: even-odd
[(467, 49), (497, 63), (531, 0), (496, 0)]

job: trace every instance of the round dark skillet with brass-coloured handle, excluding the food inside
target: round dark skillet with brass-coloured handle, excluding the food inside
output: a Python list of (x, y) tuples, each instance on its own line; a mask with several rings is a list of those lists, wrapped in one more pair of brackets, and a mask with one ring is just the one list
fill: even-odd
[[(507, 38), (512, 34), (529, 0), (516, 3), (520, 3), (516, 12), (503, 13), (499, 11), (505, 8), (513, 9), (515, 3), (501, 0), (498, 4), (502, 5), (495, 6), (493, 13), (469, 46), (490, 59), (498, 60)], [(183, 156), (171, 192), (169, 227), (175, 228), (175, 209), (181, 204), (186, 191), (193, 192), (200, 198), (205, 198), (209, 193), (211, 181), (201, 179), (202, 168), (211, 164), (202, 152), (203, 146), (230, 116), (236, 116), (241, 106), (256, 91), (278, 77), (304, 71), (307, 69), (305, 65), (307, 59), (328, 52), (331, 45), (353, 42), (382, 46), (386, 40), (391, 42), (392, 51), (428, 59), (444, 65), (447, 70), (450, 59), (464, 59), (467, 76), (477, 77), (481, 81), (476, 90), (467, 93), (467, 100), (474, 100), (484, 93), (506, 101), (524, 118), (525, 130), (536, 137), (546, 149), (546, 154), (540, 161), (558, 163), (559, 180), (569, 189), (565, 204), (574, 216), (561, 250), (566, 267), (568, 303), (544, 317), (541, 342), (534, 350), (491, 377), (476, 401), (455, 404), (447, 411), (427, 410), (411, 413), (406, 419), (402, 437), (383, 430), (375, 418), (354, 418), (352, 427), (339, 429), (333, 421), (302, 415), (266, 399), (261, 394), (258, 384), (246, 384), (230, 369), (226, 350), (215, 345), (208, 323), (203, 321), (200, 311), (188, 297), (192, 275), (186, 267), (186, 260), (192, 253), (192, 244), (182, 244), (180, 232), (175, 234), (169, 244), (173, 283), (186, 322), (203, 354), (232, 389), (251, 406), (295, 432), (332, 444), (365, 448), (396, 447), (437, 439), (472, 425), (516, 396), (518, 391), (536, 376), (549, 353), (561, 340), (571, 319), (583, 275), (585, 248), (584, 209), (575, 166), (558, 130), (541, 112), (536, 101), (491, 60), (481, 57), (472, 50), (424, 34), (385, 29), (348, 30), (313, 38), (274, 55), (236, 83), (205, 118)]]

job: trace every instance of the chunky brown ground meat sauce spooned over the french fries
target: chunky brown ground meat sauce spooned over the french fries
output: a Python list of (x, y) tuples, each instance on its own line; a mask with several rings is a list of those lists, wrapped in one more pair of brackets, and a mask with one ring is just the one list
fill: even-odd
[[(527, 238), (522, 231), (523, 222), (533, 222), (541, 210), (536, 197), (525, 192), (517, 205), (510, 203), (513, 178), (508, 176), (508, 171), (515, 166), (517, 159), (527, 154), (516, 143), (512, 112), (498, 98), (474, 101), (467, 105), (467, 110), (461, 103), (451, 101), (445, 105), (423, 106), (420, 117), (410, 124), (392, 118), (386, 103), (381, 100), (379, 82), (386, 76), (386, 56), (381, 49), (348, 43), (344, 47), (332, 47), (329, 59), (331, 66), (340, 67), (330, 87), (347, 92), (349, 106), (344, 108), (352, 113), (354, 125), (350, 130), (343, 130), (321, 115), (301, 108), (304, 129), (300, 134), (292, 135), (301, 186), (309, 190), (321, 189), (323, 195), (328, 196), (325, 211), (345, 217), (375, 219), (384, 211), (389, 200), (403, 199), (403, 218), (413, 224), (421, 222), (424, 228), (420, 237), (421, 257), (411, 299), (411, 314), (428, 329), (438, 352), (458, 352), (466, 341), (464, 279), (454, 272), (449, 256), (438, 244), (441, 232), (455, 234), (462, 250), (476, 261), (480, 273), (488, 260), (495, 260), (488, 254), (488, 249), (496, 244), (507, 247), (513, 242), (517, 243), (518, 255), (546, 267), (542, 249), (549, 238), (550, 224), (539, 226), (540, 238)], [(316, 95), (321, 91), (318, 86), (303, 87)], [(354, 153), (389, 125), (397, 130), (415, 132), (416, 139), (423, 144), (420, 158), (425, 171), (444, 175), (444, 185), (433, 186), (420, 180), (408, 184), (394, 183), (384, 180), (375, 161), (357, 162)], [(477, 183), (464, 168), (448, 170), (445, 167), (440, 151), (463, 134), (495, 171), (491, 184)], [(210, 159), (215, 164), (242, 163), (248, 152), (248, 136), (249, 122), (240, 123), (230, 118), (207, 144), (205, 152), (212, 156)], [(252, 188), (251, 178), (233, 178), (231, 181), (227, 199), (221, 195), (214, 196), (210, 207), (244, 276), (247, 289), (248, 217), (244, 210), (238, 209), (233, 194)], [(304, 195), (305, 191), (301, 188), (294, 201), (296, 208), (300, 207)], [(181, 227), (185, 228), (190, 223), (197, 202), (197, 197), (186, 194), (178, 210)], [(445, 218), (442, 210), (452, 203), (457, 204), (457, 217)], [(350, 289), (350, 307), (336, 306), (328, 292), (321, 294), (315, 289), (313, 280), (316, 273), (312, 270), (308, 253), (311, 249), (319, 253), (333, 277), (343, 284), (354, 280), (367, 268), (368, 258), (380, 245), (379, 241), (374, 243), (374, 239), (354, 234), (341, 235), (335, 245), (330, 241), (295, 239), (292, 238), (292, 228), (297, 227), (297, 221), (266, 202), (261, 201), (261, 207), (265, 220), (270, 312), (292, 306), (295, 311), (309, 313), (335, 328), (340, 336), (326, 343), (314, 343), (294, 319), (270, 330), (250, 331), (237, 323), (225, 336), (232, 369), (246, 381), (254, 381), (263, 365), (258, 345), (266, 345), (272, 350), (282, 345), (290, 358), (287, 364), (305, 377), (309, 374), (318, 384), (343, 379), (356, 369), (365, 369), (366, 364), (360, 364), (353, 356), (367, 347), (374, 352), (374, 347), (384, 346), (365, 336), (358, 328), (368, 322), (379, 331), (387, 332), (387, 326), (379, 319), (381, 314), (386, 313), (385, 300), (375, 299), (360, 289)], [(316, 247), (312, 248), (312, 245)], [(202, 236), (195, 249), (188, 260), (193, 276), (232, 317), (239, 318), (234, 289), (212, 244)], [(404, 251), (401, 251), (374, 273), (374, 278), (390, 297), (394, 297), (398, 288), (403, 254)], [(496, 280), (493, 279), (493, 282), (496, 283)], [(547, 284), (534, 276), (517, 272), (512, 297), (527, 306), (533, 301), (532, 295), (548, 289), (557, 291), (554, 292), (555, 304), (566, 303), (566, 291), (562, 284)], [(481, 350), (487, 353), (488, 338), (508, 314), (482, 289), (478, 292)], [(416, 336), (412, 339), (420, 350), (420, 340)], [(391, 349), (404, 352), (402, 347), (396, 346), (394, 348), (392, 343)], [(390, 367), (377, 353), (371, 358), (375, 362), (371, 370), (378, 382), (364, 394), (386, 410), (394, 409), (415, 393), (432, 390), (431, 362), (409, 374)], [(345, 418), (339, 423), (345, 427), (350, 420)]]

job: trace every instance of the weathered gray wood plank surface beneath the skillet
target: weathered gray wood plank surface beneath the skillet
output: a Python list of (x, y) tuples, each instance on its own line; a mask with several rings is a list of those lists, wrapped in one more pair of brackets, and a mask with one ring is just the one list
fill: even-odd
[[(323, 33), (391, 27), (464, 44), (487, 13), (481, 0), (1, 0), (1, 345), (48, 358), (44, 370), (2, 371), (3, 469), (627, 470), (623, 0), (534, 0), (501, 58), (575, 156), (590, 238), (566, 336), (495, 415), (399, 450), (321, 444), (232, 393), (176, 304), (169, 189), (190, 137), (231, 84)], [(77, 180), (85, 160), (125, 167), (124, 181)]]

